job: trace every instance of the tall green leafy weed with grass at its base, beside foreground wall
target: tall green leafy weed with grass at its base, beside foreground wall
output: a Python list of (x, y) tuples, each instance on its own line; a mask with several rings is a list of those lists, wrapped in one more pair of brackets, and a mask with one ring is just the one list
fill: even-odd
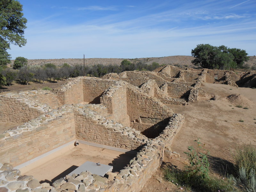
[(209, 175), (207, 158), (209, 152), (202, 147), (199, 139), (195, 141), (197, 143), (196, 149), (190, 146), (188, 152), (184, 152), (189, 161), (186, 170), (167, 169), (164, 174), (165, 179), (198, 192), (233, 192), (234, 180), (232, 178), (219, 179)]

